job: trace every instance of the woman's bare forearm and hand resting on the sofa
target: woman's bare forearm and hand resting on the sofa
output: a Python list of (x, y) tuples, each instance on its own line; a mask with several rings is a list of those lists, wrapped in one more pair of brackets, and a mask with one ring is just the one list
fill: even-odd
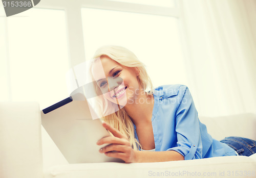
[(177, 151), (139, 151), (134, 150), (126, 136), (121, 134), (111, 125), (103, 122), (103, 127), (109, 130), (114, 137), (104, 137), (97, 144), (102, 145), (110, 143), (99, 150), (108, 157), (120, 158), (125, 163), (142, 163), (142, 162), (163, 162), (184, 160), (184, 157)]

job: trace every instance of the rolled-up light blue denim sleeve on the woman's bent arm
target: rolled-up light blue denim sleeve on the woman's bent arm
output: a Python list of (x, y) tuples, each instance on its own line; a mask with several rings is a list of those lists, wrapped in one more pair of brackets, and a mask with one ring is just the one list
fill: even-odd
[(185, 160), (202, 158), (202, 141), (198, 113), (193, 98), (186, 86), (181, 86), (177, 97), (178, 107), (175, 114), (177, 146), (174, 150)]

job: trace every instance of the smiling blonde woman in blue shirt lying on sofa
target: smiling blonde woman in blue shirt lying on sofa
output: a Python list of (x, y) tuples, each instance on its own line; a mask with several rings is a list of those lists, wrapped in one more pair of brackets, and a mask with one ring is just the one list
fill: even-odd
[[(99, 150), (102, 154), (133, 163), (236, 156), (243, 152), (249, 156), (256, 151), (256, 142), (250, 139), (212, 139), (199, 121), (188, 88), (178, 84), (153, 90), (144, 65), (130, 50), (103, 46), (94, 59), (92, 77), (96, 92), (102, 94), (98, 111), (103, 116), (102, 125), (113, 135), (97, 142), (110, 144)], [(241, 144), (234, 144), (238, 142)], [(249, 153), (246, 145), (250, 145)]]

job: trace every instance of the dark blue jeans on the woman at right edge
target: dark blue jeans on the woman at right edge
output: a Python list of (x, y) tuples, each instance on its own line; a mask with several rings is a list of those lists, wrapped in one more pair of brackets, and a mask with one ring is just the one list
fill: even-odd
[(256, 152), (256, 141), (242, 137), (226, 137), (220, 142), (226, 143), (228, 146), (237, 151), (238, 155), (250, 156)]

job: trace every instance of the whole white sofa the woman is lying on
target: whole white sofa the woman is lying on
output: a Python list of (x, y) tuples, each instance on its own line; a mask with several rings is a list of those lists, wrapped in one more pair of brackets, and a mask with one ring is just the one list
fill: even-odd
[[(216, 139), (256, 140), (256, 115), (200, 117)], [(37, 103), (0, 103), (1, 178), (256, 177), (256, 154), (158, 163), (68, 164), (41, 128)]]

